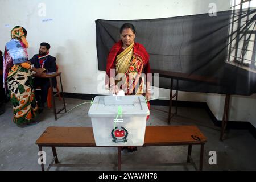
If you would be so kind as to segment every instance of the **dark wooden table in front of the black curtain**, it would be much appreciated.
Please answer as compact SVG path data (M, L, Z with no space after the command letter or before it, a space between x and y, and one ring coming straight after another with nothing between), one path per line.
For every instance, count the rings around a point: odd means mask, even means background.
M211 85L218 85L219 81L216 78L201 76L201 75L190 75L188 73L180 73L180 72L170 72L170 71L163 71L158 69L151 69L151 73L158 73L160 77L170 78L171 79L171 86L170 86L170 104L169 104L169 113L168 113L168 123L170 124L171 118L174 116L171 112L172 108L172 99L176 97L176 106L175 106L175 114L177 114L177 97L179 91L179 80L184 81L193 81L193 82L205 82ZM176 82L176 93L172 94L172 90L174 88L174 80ZM221 135L220 140L224 140L224 133L226 129L226 125L228 122L228 111L229 111L229 100L230 94L225 94L225 105L224 105L224 113L222 117L222 125L221 125Z

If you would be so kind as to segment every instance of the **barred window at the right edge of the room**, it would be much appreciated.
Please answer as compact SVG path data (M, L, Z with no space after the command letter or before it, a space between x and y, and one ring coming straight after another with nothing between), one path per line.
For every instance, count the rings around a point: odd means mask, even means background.
M256 72L256 0L231 0L227 62Z

